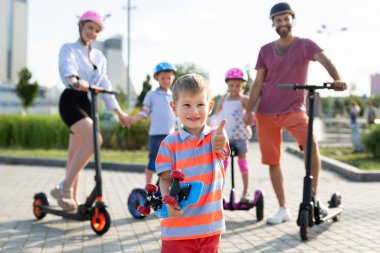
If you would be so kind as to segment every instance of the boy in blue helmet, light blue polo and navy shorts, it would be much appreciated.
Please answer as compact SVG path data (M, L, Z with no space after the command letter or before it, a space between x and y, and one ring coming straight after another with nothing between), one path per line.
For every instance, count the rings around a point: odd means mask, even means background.
M174 132L175 115L170 107L173 101L170 87L174 81L175 67L168 62L159 63L154 69L154 79L160 87L149 91L138 114L132 117L132 124L151 115L149 127L149 163L145 169L146 183L151 183L155 173L155 161L161 141Z

